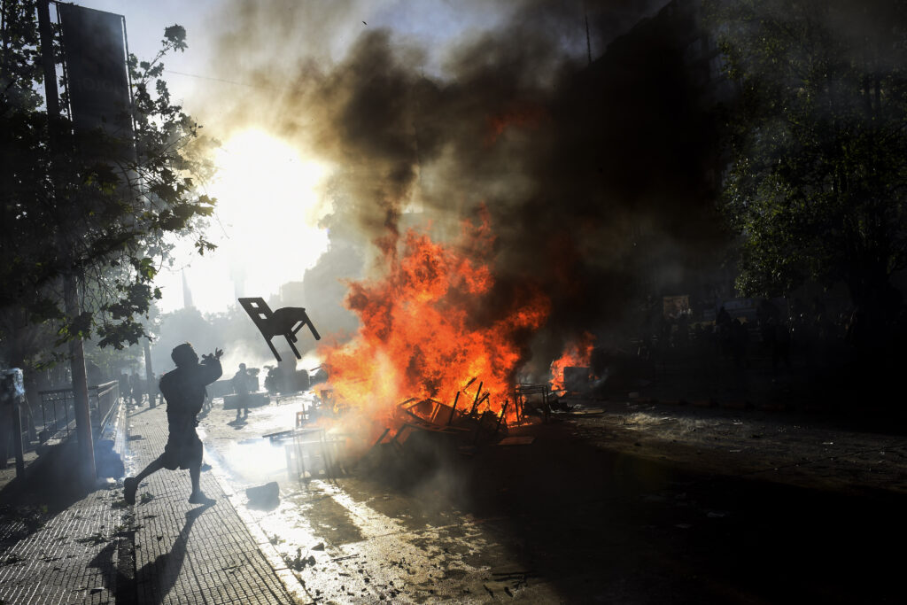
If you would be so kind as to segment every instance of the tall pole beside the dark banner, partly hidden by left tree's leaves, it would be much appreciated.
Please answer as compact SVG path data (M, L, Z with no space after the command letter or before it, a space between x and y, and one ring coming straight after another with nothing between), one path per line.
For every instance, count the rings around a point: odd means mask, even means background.
M50 3L38 2L38 33L41 36L41 60L44 66L44 101L47 104L47 125L50 149L56 148L57 123L60 118L60 96L56 88L56 63L54 62L54 34L51 30ZM51 171L54 181L54 171ZM73 268L63 273L63 299L66 316L79 316L79 297ZM79 473L86 482L93 483L94 444L92 439L92 417L88 409L88 378L85 376L85 352L81 337L69 341L70 367L73 373L73 399L75 402L75 432L79 440Z

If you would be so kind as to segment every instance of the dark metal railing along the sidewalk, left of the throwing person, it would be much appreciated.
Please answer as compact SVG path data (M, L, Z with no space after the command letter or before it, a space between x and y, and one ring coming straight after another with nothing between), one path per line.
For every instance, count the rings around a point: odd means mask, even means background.
M72 387L40 391L41 443L65 440L75 431L75 395ZM88 410L92 419L92 435L97 439L113 415L120 400L120 384L112 380L102 385L88 387ZM35 415L37 420L37 415Z

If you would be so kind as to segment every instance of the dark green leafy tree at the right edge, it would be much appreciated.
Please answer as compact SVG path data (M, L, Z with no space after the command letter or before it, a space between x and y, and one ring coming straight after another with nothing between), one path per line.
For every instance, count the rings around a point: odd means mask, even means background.
M903 2L716 0L739 98L727 112L723 205L742 236L737 286L785 295L843 281L892 312L907 267L907 11Z

